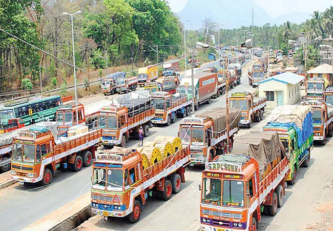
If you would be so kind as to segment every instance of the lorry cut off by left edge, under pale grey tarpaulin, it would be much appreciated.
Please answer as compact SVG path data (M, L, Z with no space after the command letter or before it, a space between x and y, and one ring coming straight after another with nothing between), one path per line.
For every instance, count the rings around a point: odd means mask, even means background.
M34 124L36 126L46 126L56 130L55 122L40 122ZM0 171L5 172L10 170L10 162L13 150L13 139L18 136L18 132L25 130L33 125L17 128L0 136Z

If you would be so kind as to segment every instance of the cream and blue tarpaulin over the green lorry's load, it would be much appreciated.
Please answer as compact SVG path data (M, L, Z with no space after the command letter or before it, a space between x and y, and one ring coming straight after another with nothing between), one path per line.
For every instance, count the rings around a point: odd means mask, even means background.
M284 105L275 108L266 119L268 127L293 127L297 132L298 146L314 133L312 108L305 105Z

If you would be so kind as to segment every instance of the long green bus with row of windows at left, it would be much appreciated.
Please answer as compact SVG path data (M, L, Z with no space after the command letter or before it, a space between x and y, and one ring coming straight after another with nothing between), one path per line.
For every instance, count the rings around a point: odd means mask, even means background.
M6 105L0 109L0 123L8 124L10 119L22 119L25 126L42 121L55 121L57 109L63 105L60 95Z

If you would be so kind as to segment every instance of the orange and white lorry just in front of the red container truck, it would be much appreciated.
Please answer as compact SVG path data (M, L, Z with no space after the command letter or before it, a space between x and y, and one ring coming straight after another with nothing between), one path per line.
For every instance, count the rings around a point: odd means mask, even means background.
M153 124L170 125L176 122L178 115L184 118L192 111L192 95L157 91L151 94L151 99L155 107Z

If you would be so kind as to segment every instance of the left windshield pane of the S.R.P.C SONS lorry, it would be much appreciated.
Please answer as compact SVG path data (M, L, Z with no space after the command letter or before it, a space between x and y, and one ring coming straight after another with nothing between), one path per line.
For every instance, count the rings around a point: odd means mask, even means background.
M221 180L203 178L201 201L221 205Z

